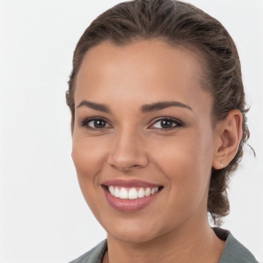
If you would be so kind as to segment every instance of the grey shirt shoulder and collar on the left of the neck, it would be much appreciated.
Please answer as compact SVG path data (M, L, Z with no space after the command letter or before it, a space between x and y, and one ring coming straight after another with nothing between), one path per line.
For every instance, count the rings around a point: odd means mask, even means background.
M99 243L95 248L86 252L77 259L69 263L101 263L105 252L107 251L107 239Z

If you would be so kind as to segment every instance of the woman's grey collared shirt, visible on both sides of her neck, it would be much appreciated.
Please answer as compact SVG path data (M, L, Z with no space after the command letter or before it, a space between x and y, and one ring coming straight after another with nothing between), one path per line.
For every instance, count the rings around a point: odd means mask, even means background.
M218 263L258 263L251 252L239 243L229 231L213 228L221 240L227 240L222 256ZM70 263L101 263L107 251L107 239Z

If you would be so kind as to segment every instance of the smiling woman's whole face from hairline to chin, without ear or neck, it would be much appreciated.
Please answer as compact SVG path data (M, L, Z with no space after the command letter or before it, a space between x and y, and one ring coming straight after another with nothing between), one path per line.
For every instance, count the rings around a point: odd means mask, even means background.
M207 221L216 147L199 61L157 40L104 42L84 57L72 159L111 237L143 242Z

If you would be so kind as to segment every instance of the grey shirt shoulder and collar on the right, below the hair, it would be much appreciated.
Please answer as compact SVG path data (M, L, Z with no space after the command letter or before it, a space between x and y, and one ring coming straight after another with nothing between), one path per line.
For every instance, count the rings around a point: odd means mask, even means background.
M213 230L219 238L221 238L222 240L227 240L219 263L258 262L252 255L252 253L239 241L237 241L229 231L220 228L213 228Z

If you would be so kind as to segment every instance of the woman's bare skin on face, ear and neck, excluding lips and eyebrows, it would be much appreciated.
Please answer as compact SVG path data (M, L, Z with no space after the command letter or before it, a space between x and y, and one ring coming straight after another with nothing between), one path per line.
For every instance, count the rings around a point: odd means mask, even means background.
M212 128L201 68L197 54L158 40L103 42L85 54L74 95L72 159L83 196L107 231L103 262L219 261L224 241L210 228L206 210L211 168L235 156L242 117L231 111ZM78 107L83 100L110 112ZM140 110L167 101L191 109ZM94 122L85 120L93 117L106 126L92 129ZM161 129L165 118L173 118L172 128ZM142 210L120 212L105 198L101 184L109 179L140 179L163 189Z

